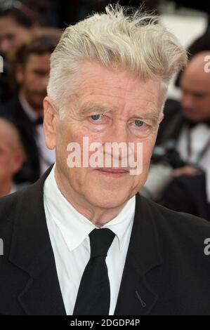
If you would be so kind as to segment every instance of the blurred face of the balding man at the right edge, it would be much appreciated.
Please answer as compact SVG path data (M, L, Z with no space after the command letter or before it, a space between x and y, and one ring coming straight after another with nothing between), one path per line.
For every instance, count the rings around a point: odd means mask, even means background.
M210 119L210 74L204 72L204 57L192 60L181 78L184 116L195 122Z

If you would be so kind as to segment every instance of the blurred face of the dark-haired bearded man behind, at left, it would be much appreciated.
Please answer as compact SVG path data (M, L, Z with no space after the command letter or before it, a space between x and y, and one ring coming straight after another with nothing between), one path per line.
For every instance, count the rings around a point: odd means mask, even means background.
M21 91L36 111L43 107L50 72L50 54L29 55L24 68L18 72Z

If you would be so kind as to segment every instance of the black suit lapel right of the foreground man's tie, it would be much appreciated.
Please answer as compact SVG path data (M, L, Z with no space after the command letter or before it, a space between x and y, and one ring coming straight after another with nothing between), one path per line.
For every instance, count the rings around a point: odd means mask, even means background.
M158 300L147 275L162 265L152 212L136 195L136 214L114 315L148 315Z

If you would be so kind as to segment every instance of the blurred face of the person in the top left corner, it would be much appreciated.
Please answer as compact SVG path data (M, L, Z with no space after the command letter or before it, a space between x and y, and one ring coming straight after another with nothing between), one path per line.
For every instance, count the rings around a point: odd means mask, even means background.
M13 18L0 19L0 53L8 58L25 43L31 34L31 29L18 25Z

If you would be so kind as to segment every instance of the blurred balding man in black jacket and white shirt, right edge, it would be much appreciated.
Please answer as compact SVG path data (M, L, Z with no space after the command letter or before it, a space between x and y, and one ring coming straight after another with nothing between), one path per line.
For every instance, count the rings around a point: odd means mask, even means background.
M169 101L157 142L173 141L183 166L173 169L173 180L160 203L175 211L210 220L210 73L202 51L190 58L180 77L181 103Z

